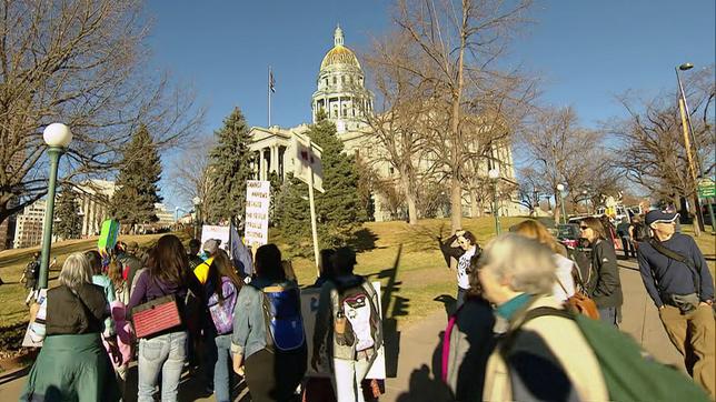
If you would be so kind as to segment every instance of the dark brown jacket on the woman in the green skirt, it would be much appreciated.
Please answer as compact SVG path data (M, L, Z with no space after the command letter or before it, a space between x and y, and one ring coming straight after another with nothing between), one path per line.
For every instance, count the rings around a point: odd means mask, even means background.
M47 292L47 334L100 333L109 306L102 287L83 283L72 293L59 285Z

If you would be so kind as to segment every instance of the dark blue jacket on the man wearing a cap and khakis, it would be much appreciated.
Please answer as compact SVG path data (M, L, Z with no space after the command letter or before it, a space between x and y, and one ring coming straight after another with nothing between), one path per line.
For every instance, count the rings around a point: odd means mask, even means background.
M665 248L684 257L690 258L700 274L700 300L714 299L714 280L708 271L708 264L694 239L686 234L674 233L672 239L662 242ZM684 263L669 259L652 247L640 242L637 250L639 271L647 292L657 308L664 305L662 294L697 293L692 270ZM657 288L658 283L658 288Z

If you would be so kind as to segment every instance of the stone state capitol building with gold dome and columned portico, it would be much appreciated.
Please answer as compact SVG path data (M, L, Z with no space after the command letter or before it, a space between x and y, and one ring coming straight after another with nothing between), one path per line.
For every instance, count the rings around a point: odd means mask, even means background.
M311 96L311 122L317 122L317 115L324 110L328 119L336 124L338 138L344 142L345 152L355 154L367 161L377 177L384 182L392 182L398 187L399 175L397 171L380 155L382 147L371 135L370 127L365 122L365 113L374 112L374 96L366 89L365 74L360 62L348 47L344 43L344 32L340 27L334 33L334 47L328 50L320 63L317 89ZM280 178L294 172L297 163L296 150L294 149L294 137L305 135L309 125L304 123L294 128L280 128L271 125L268 128L252 127L249 135L252 139L250 149L256 153L253 170L258 180L268 180L269 174L275 172ZM500 163L500 179L506 183L515 183L514 164L509 147L500 148L498 151ZM428 159L420 159L417 163L419 170L430 171ZM488 167L485 171L487 178ZM419 182L418 185L421 185ZM371 195L374 202L374 219L376 221L390 221L405 219L407 208L396 208L388 202L388 195L374 190ZM469 194L464 198L470 200ZM449 200L446 201L449 204ZM469 202L465 202L465 212L469 212ZM445 205L447 208L447 204ZM489 202L480 205L478 215L489 212ZM442 208L442 214L449 212ZM504 200L499 204L500 215L526 214L524 207L510 200ZM438 213L439 215L440 213ZM468 213L469 215L469 213Z

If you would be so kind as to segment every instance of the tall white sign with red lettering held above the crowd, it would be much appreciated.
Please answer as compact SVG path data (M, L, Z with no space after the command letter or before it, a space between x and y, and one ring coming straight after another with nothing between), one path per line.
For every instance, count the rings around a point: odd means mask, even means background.
M271 183L265 180L246 182L246 222L243 239L247 245L268 243L268 211Z

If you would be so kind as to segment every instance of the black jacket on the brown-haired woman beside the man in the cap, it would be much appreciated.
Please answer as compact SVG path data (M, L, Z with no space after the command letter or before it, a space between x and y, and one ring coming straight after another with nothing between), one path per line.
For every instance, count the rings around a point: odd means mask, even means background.
M618 308L623 303L621 280L617 255L610 242L598 239L591 244L591 278L587 284L589 297L597 308Z

